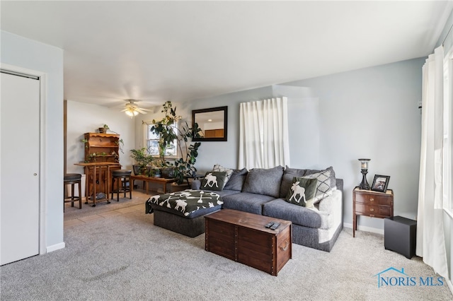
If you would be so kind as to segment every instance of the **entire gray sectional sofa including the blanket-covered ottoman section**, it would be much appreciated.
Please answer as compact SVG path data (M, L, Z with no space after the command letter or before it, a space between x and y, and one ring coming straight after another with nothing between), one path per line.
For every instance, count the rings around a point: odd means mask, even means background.
M215 168L215 166L214 166ZM223 168L223 167L222 167ZM229 170L229 169L224 169ZM214 192L222 204L190 213L147 202L147 213L154 211L154 225L190 237L205 232L206 214L229 208L292 221L292 242L330 252L343 229L343 179L336 179L332 167L326 170L303 170L277 166L270 169L229 170L222 189L202 187L192 182L193 191ZM232 173L231 173L232 172ZM287 194L296 177L316 178L316 201L313 208L289 203ZM320 185L321 184L321 185ZM321 189L322 188L322 189ZM151 199L151 198L150 198Z

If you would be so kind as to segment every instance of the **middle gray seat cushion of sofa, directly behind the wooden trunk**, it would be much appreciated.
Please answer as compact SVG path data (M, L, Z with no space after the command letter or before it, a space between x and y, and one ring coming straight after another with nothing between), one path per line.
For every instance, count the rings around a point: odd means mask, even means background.
M239 194L222 196L222 201L224 202L222 208L234 209L261 215L263 213L263 203L272 201L273 199L275 199L273 196L241 192Z

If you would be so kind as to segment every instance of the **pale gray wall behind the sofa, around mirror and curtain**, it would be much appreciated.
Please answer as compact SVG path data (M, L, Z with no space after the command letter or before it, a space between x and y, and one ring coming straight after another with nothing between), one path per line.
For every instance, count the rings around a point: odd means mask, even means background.
M371 158L367 180L389 175L394 214L415 218L418 203L422 66L425 58L229 93L183 104L185 110L228 105L228 141L205 142L197 168L238 167L239 103L288 97L291 167L333 166L344 179L345 226L352 226L352 189ZM359 229L382 232L384 221L359 218Z

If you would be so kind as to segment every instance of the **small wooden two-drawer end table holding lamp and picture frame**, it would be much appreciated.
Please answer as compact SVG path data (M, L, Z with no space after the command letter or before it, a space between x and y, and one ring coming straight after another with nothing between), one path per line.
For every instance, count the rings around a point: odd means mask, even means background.
M394 191L372 191L355 187L352 191L352 237L357 230L358 216L389 218L394 216Z

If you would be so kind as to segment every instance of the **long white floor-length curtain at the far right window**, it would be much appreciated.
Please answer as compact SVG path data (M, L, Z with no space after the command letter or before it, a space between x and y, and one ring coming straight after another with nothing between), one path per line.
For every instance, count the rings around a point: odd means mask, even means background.
M448 278L442 218L442 139L443 139L443 61L442 47L435 49L423 65L422 137L418 187L417 246L440 276Z

